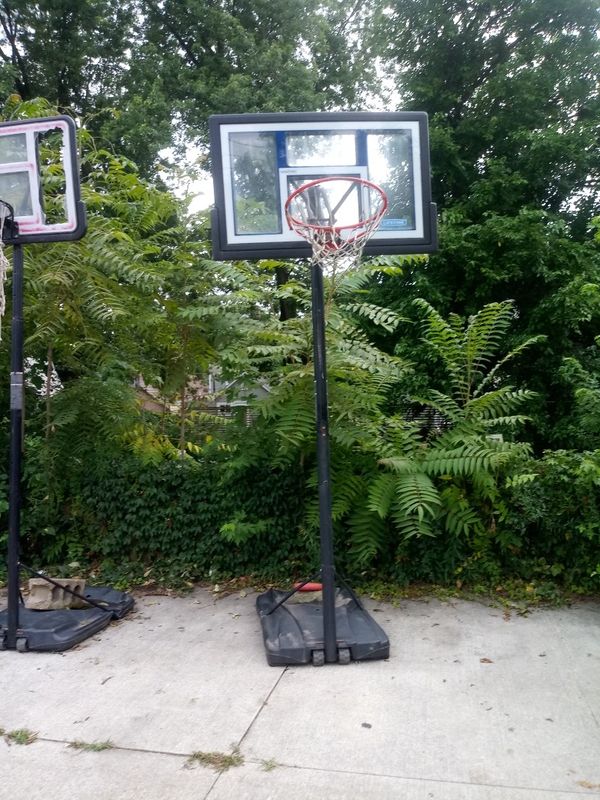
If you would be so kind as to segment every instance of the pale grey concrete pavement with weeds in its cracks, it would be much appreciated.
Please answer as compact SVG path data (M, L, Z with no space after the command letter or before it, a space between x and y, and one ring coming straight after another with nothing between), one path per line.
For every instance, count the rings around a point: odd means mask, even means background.
M600 797L599 605L370 602L388 661L283 669L254 603L144 597L66 653L0 653L0 727L37 733L0 740L0 798Z

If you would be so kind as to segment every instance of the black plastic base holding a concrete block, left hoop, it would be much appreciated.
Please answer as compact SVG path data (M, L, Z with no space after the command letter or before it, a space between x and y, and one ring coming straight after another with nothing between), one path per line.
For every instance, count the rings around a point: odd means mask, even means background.
M111 620L121 619L133 608L133 597L102 586L91 586L85 596L103 608L61 609L59 611L31 611L19 607L17 650L61 652L74 647L84 639L105 628ZM8 612L0 611L0 649L6 647Z

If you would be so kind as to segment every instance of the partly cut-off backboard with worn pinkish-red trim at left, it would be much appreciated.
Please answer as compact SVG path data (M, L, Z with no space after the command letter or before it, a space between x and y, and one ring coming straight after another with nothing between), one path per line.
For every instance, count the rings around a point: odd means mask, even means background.
M0 200L13 211L9 242L80 239L81 202L75 123L70 117L0 123Z

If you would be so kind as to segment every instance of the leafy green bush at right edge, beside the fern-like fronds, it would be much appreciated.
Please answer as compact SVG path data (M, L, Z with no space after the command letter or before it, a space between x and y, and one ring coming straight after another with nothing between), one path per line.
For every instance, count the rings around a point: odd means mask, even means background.
M501 513L485 529L401 542L367 580L518 586L551 599L600 587L600 451L548 451L520 464L499 490Z

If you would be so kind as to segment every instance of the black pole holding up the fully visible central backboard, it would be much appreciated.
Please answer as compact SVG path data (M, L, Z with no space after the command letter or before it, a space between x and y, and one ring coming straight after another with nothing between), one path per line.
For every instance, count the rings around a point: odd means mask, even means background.
M323 582L323 638L325 661L338 660L335 624L335 566L333 563L333 525L331 521L331 481L329 477L329 415L327 411L327 370L325 364L325 308L323 270L312 264L313 357L317 422L317 473L319 484L319 527L321 533L321 579Z

